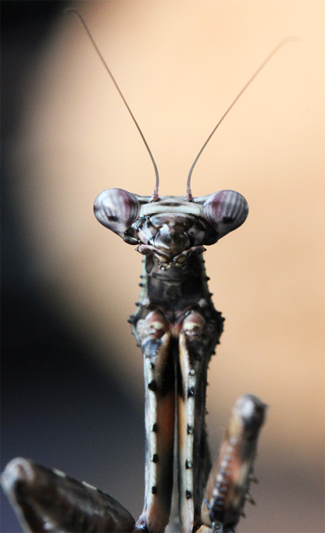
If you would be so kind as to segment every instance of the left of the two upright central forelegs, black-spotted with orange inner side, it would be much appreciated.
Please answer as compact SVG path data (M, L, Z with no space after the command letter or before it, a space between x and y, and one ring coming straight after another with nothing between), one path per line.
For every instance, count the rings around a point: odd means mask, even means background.
M165 530L170 519L175 426L172 336L159 311L143 308L133 328L143 351L145 381L145 502L137 527ZM131 319L132 320L132 319Z

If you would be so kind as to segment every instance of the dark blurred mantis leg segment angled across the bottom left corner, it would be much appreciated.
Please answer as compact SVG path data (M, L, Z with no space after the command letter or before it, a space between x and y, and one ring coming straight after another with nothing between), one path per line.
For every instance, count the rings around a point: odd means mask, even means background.
M131 533L132 515L85 482L16 458L1 475L4 491L26 532Z

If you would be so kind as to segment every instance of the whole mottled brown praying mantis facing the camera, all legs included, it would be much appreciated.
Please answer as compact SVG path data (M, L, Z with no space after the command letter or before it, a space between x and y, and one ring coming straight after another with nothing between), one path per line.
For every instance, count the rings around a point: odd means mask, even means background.
M233 191L194 200L189 187L185 199L159 198L157 189L153 198L115 189L96 202L99 219L126 242L138 244L146 259L141 305L131 318L143 347L147 384L143 514L135 524L121 505L94 488L14 460L4 485L31 531L163 531L170 520L176 440L182 530L231 531L243 510L265 407L250 395L236 402L208 476L206 370L222 318L207 291L202 252L204 244L241 225L246 201Z

